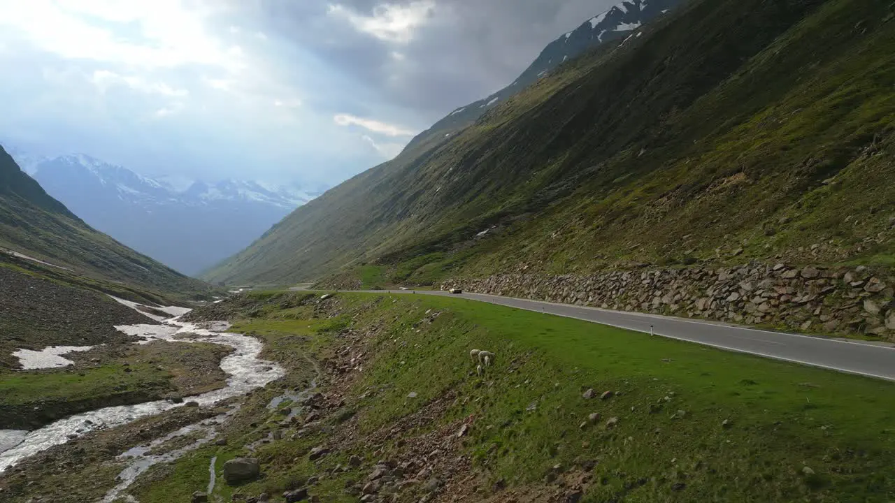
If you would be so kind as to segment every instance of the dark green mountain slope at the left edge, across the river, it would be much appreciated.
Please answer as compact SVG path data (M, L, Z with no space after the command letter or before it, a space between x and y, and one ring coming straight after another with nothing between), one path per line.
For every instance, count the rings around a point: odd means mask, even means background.
M56 268L47 266L48 272L70 276L72 281L66 281L69 283L83 283L75 278L87 276L164 293L209 290L202 282L168 269L87 226L23 173L2 147L0 252L2 263L21 262L8 255L18 252L54 264Z

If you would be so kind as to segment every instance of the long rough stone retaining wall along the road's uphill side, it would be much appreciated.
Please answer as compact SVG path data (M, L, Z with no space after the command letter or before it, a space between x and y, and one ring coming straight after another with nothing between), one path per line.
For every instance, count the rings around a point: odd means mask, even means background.
M449 279L441 289L895 340L893 286L891 271L753 263L592 276L503 274Z

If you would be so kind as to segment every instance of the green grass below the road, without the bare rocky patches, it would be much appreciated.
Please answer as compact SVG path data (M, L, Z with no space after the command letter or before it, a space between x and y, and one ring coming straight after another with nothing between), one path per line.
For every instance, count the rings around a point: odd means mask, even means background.
M276 295L264 295L260 303L278 302ZM540 487L551 466L575 470L585 462L595 463L586 501L895 497L890 382L456 298L338 294L337 303L336 318L320 320L320 312L315 318L304 305L266 309L235 328L256 332L268 348L277 339L292 341L269 356L294 358L302 351L327 354L337 339L334 329L379 327L367 342L371 356L362 379L345 396L350 413L334 414L327 424L337 431L353 415L362 438L456 394L436 422L399 437L412 444L426 431L473 417L464 449L482 475L482 498L494 482L506 482L509 490ZM440 315L430 324L426 311ZM497 354L482 378L469 360L473 348ZM585 399L587 388L615 396ZM360 399L368 389L378 390L375 397ZM407 398L411 392L415 399ZM260 415L253 422L277 421L270 411L254 410ZM600 421L582 428L590 413L600 413ZM607 426L609 418L618 419L614 428ZM239 434L251 439L263 428ZM161 502L201 489L210 456L220 463L242 454L242 439L183 458L167 468L168 477L141 485L136 496ZM370 452L345 448L320 465L308 462L303 453L327 439L321 433L262 446L253 456L261 459L265 478L239 491L278 494L344 464L350 454L371 460ZM400 449L392 442L386 455ZM316 493L322 501L352 500L341 484L362 475L337 475ZM233 492L226 485L218 490L225 498Z

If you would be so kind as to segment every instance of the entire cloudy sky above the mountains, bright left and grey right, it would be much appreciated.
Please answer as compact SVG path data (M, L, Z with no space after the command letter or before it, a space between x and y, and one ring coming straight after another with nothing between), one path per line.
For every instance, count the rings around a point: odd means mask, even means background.
M0 141L335 184L612 0L0 0Z

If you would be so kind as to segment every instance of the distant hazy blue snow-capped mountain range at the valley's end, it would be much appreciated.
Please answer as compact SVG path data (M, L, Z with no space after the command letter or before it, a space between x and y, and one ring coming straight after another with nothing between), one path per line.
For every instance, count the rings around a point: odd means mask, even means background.
M179 189L83 154L13 157L55 199L134 250L195 275L243 249L317 192L224 180Z

